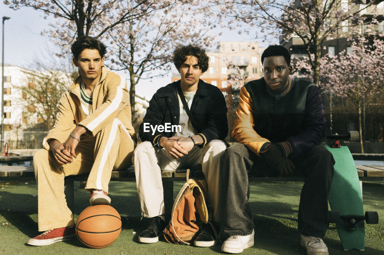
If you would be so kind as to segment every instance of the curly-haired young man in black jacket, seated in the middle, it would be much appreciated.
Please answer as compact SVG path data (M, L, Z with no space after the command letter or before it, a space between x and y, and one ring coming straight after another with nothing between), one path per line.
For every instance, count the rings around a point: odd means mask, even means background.
M151 218L147 229L139 235L139 242L157 242L166 226L161 171L201 166L208 186L209 221L194 244L207 247L217 243L213 222L223 218L219 170L227 147L223 141L228 132L227 105L220 89L200 80L209 65L203 49L191 45L178 47L173 62L180 80L160 88L152 97L139 128L142 143L134 152L141 213ZM183 105L184 98L192 119ZM166 125L179 128L167 130ZM154 128L158 126L162 128Z

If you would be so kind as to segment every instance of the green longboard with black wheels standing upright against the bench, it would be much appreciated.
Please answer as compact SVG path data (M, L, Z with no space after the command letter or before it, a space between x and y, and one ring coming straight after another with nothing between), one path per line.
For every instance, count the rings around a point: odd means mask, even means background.
M357 133L357 134L356 134ZM377 212L366 212L362 207L362 194L356 165L346 144L339 139L358 137L351 131L347 136L327 136L325 147L332 153L335 165L331 191L328 196L330 221L336 223L344 250L364 250L364 220L377 224ZM363 216L364 215L364 216Z

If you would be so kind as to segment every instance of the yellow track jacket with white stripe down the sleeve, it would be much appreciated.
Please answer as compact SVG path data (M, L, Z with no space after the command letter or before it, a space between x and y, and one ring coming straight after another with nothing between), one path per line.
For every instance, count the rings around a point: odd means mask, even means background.
M51 139L64 143L76 125L86 127L86 134L95 136L115 118L122 122L133 141L136 141L125 78L102 67L100 81L92 92L92 113L88 116L81 109L81 80L81 75L79 75L61 96L55 126L43 139L44 148L50 150Z

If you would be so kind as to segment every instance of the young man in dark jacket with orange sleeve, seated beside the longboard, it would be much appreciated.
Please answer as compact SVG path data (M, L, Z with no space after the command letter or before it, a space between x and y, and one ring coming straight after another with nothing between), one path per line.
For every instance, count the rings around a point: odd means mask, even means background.
M271 45L261 57L264 77L240 90L232 136L239 142L224 155L226 191L222 252L240 253L253 246L248 174L303 175L298 232L309 255L328 255L324 237L329 224L328 194L334 172L332 154L321 142L325 119L319 88L291 77L291 56Z

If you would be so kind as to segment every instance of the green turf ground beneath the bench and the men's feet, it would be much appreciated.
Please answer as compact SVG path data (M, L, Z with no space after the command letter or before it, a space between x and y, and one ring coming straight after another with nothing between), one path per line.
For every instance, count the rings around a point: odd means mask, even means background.
M175 183L174 195L183 183ZM300 247L297 233L297 211L301 182L257 182L250 183L250 205L255 222L255 246L242 254L300 254L306 252ZM75 182L75 217L89 205L89 193ZM37 186L28 183L0 183L0 254L216 254L215 247L192 247L168 244L161 239L155 244L140 244L137 235L146 227L140 221L139 200L136 183L111 182L109 195L112 206L122 218L122 231L116 242L103 249L84 247L77 239L57 242L53 245L33 247L27 240L37 231ZM384 184L363 183L365 211L377 211L379 224L366 225L365 252L344 251L335 225L331 224L324 238L329 254L384 254Z

